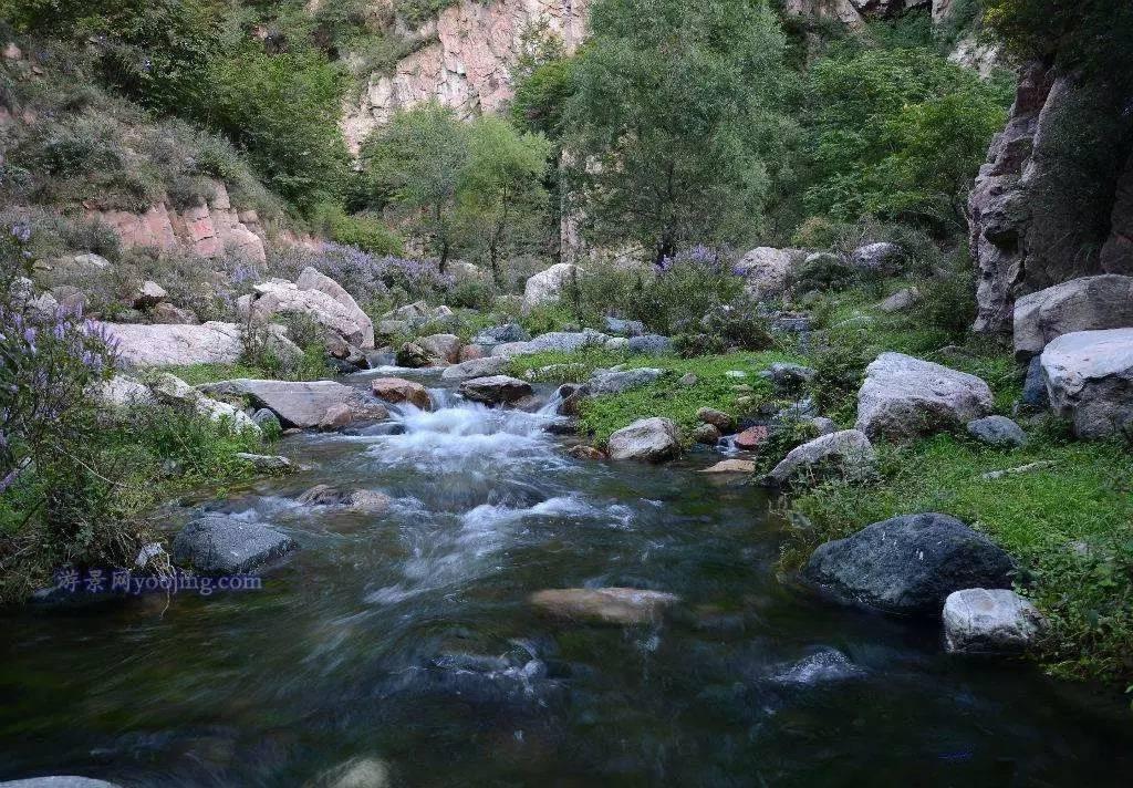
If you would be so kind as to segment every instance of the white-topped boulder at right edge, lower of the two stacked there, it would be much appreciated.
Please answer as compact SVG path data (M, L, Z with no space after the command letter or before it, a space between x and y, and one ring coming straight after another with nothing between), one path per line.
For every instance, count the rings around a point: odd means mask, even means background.
M1076 435L1133 434L1133 328L1063 334L1041 359L1050 407Z

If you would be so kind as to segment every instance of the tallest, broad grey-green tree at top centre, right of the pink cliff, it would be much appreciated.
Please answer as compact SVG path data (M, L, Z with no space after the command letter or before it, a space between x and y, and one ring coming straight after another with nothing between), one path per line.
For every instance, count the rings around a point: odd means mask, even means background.
M758 230L791 136L767 3L598 0L591 29L563 124L588 235L659 262Z

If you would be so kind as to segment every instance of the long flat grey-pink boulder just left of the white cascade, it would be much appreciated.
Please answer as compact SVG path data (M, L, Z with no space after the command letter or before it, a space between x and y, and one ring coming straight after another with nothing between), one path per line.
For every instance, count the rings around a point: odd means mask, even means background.
M197 387L206 395L247 397L256 407L269 408L283 426L317 427L326 412L346 405L355 418L386 418L390 414L381 403L335 381L282 381L239 378Z

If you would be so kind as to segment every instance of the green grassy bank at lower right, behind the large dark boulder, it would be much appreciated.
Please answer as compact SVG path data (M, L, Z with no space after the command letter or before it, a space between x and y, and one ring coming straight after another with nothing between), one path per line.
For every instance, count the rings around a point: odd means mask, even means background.
M1033 461L1033 473L981 480ZM819 542L911 511L944 511L982 529L1022 559L1022 591L1050 625L1040 656L1060 675L1128 683L1133 661L1133 494L1128 447L1064 443L1042 431L1008 451L939 435L883 449L881 480L832 482L792 501L801 561Z

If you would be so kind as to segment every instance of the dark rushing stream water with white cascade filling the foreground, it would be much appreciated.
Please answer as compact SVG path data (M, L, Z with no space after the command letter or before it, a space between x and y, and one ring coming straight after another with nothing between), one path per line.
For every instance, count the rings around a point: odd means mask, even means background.
M308 471L208 505L300 543L263 590L3 613L0 779L303 786L380 759L401 786L1130 785L1119 700L777 578L766 497L697 474L707 454L574 460L546 413L434 395L395 430L288 439ZM317 483L393 505L296 503ZM629 628L527 601L576 586L682 601Z

